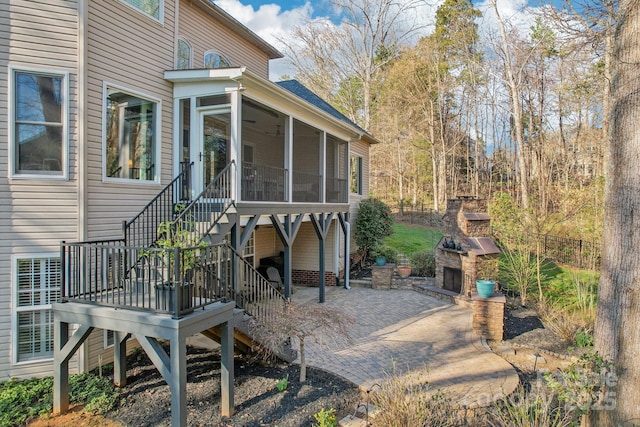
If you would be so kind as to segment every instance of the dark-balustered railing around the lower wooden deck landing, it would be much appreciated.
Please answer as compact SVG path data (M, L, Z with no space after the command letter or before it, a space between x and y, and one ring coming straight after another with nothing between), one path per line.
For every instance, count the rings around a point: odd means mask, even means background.
M226 244L125 246L121 240L61 244L63 301L166 313L233 299Z

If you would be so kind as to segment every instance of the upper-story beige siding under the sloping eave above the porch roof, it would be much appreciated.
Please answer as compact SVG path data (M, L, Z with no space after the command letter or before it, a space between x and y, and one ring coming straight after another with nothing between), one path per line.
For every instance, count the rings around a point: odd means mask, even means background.
M204 54L209 50L222 53L233 66L244 67L260 77L269 78L269 58L229 28L213 20L189 1L180 1L179 36L191 45L192 68L204 67Z

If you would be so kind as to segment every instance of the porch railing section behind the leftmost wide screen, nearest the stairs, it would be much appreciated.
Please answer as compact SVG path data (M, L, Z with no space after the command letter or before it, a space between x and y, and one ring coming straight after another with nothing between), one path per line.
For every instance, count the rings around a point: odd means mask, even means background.
M242 200L284 202L288 194L287 169L257 163L242 163Z

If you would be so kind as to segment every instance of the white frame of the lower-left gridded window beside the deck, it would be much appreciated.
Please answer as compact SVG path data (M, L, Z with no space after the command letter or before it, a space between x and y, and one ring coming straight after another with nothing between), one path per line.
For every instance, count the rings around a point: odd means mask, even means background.
M29 306L19 306L18 305L18 260L21 259L29 259L29 260L35 260L35 259L59 259L60 258L60 253L59 252L51 252L51 253L40 253L40 254L24 254L24 255L13 255L11 257L11 268L12 268L12 274L11 274L11 295L12 295L12 307L11 307L11 313L12 313L12 325L11 325L11 334L13 336L12 340L11 340L11 344L12 344L12 362L14 365L28 365L28 364L34 364L34 363L42 363L42 362L48 362L53 360L53 353L51 354L50 357L41 357L41 358L34 358L34 359L30 359L30 360L23 360L23 361L19 361L19 355L18 355L18 313L20 312L31 312L31 311L46 311L46 310L51 310L52 309L52 304L40 304L40 305L29 305ZM60 274L62 274L62 266L60 268ZM44 290L44 289L43 289ZM51 340L53 341L53 336L51 337ZM52 347L53 347L53 343L52 343Z

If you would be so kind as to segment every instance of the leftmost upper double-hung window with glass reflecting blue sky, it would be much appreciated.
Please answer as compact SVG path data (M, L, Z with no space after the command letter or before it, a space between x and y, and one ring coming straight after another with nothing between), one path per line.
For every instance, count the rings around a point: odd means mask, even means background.
M10 173L66 177L68 74L12 70Z

